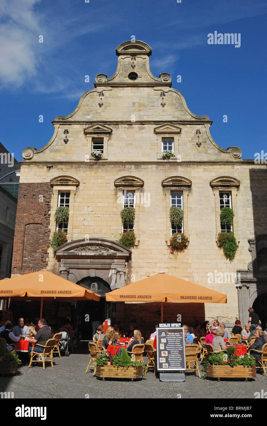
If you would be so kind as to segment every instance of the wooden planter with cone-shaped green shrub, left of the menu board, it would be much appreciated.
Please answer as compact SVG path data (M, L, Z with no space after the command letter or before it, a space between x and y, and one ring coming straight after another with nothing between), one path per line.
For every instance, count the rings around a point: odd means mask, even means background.
M110 363L110 365L108 365ZM125 348L121 355L99 355L95 361L96 376L122 379L142 379L146 374L147 368L144 363L131 360ZM145 376L146 377L146 376Z

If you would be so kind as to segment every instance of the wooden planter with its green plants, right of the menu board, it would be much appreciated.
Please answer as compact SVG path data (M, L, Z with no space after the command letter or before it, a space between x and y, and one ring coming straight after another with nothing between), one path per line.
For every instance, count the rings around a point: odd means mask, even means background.
M248 378L256 377L256 361L253 357L245 355L238 357L235 355L236 346L226 348L227 354L220 352L210 355L203 361L204 379L206 377L216 377L220 381L221 377Z

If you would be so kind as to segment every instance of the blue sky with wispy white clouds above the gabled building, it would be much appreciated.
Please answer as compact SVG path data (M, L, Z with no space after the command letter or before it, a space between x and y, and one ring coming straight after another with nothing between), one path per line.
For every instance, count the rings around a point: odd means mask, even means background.
M97 74L113 75L116 47L134 35L152 48L151 72L170 73L189 109L213 120L215 142L254 158L267 151L266 15L264 0L1 0L0 141L18 161L43 147L55 116L72 112ZM241 46L209 45L215 31L240 33Z

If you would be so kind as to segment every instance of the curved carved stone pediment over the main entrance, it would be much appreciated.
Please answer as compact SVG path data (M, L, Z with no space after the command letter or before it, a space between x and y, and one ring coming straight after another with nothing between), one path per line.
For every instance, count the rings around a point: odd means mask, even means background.
M61 245L55 250L56 259L65 257L86 256L86 257L103 257L125 259L126 262L131 260L131 250L119 244L118 242L104 238L88 238L74 240Z

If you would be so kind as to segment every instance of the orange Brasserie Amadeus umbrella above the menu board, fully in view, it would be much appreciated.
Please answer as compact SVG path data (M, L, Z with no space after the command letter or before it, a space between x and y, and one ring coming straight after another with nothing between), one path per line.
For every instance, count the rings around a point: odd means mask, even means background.
M165 272L110 291L110 293L106 293L106 300L107 302L161 302L161 322L163 322L163 302L227 302L226 294L168 275Z

